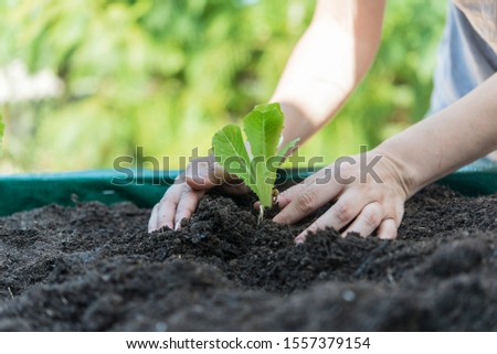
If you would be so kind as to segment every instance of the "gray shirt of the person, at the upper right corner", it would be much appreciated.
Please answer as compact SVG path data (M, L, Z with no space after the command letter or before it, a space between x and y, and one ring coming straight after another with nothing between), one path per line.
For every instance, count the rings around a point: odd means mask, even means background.
M453 104L496 72L497 0L451 1L427 115Z

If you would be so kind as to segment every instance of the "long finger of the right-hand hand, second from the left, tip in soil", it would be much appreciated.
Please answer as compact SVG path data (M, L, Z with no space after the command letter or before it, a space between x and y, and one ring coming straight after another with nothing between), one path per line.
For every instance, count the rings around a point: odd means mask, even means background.
M359 215L362 207L368 203L361 194L345 193L325 214L295 237L295 243L300 244L305 242L309 233L315 233L318 229L332 227L339 230L343 228Z

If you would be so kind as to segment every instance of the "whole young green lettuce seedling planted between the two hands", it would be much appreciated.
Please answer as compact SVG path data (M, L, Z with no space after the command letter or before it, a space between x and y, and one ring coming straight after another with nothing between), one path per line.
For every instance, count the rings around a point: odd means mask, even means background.
M276 170L288 150L299 140L295 139L276 151L281 142L283 121L279 104L260 105L243 118L246 142L236 125L225 126L212 138L215 160L257 194L261 202L260 221L264 216L264 208L273 206Z

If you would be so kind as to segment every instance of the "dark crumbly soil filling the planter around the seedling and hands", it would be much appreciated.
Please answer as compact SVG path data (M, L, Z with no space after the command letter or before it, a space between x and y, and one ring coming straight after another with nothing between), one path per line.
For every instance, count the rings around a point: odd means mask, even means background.
M151 235L129 203L0 218L0 331L497 331L497 195L431 186L393 242L302 246L313 217L257 226L252 202Z

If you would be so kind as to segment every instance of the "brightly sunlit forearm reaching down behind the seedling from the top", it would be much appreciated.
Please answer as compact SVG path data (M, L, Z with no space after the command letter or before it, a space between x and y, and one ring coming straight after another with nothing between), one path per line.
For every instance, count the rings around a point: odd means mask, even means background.
M285 112L285 141L305 141L343 105L376 56L383 10L383 1L318 1L271 99Z

